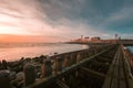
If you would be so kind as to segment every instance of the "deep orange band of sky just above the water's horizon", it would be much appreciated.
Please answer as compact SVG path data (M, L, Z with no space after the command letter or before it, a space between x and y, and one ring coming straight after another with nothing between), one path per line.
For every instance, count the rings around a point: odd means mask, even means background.
M11 42L58 42L51 36L0 34L0 43Z

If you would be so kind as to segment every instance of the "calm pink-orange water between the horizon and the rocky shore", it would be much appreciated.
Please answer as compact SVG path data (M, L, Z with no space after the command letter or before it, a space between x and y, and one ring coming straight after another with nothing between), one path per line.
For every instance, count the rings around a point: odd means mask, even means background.
M80 44L0 44L0 59L17 61L21 57L34 57L40 55L53 55L54 53L65 53L88 48Z

